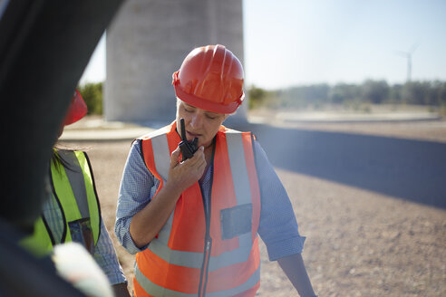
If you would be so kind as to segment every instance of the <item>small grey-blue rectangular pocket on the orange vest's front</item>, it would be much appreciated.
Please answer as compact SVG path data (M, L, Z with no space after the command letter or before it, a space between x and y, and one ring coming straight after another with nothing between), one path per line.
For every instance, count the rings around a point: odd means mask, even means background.
M252 203L225 208L220 211L221 239L231 239L251 232Z

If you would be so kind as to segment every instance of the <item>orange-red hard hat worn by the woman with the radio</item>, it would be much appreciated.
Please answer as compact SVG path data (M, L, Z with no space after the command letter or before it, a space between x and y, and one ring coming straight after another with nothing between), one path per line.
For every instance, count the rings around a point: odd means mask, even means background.
M245 98L243 67L220 44L194 49L172 79L177 97L202 110L232 113Z

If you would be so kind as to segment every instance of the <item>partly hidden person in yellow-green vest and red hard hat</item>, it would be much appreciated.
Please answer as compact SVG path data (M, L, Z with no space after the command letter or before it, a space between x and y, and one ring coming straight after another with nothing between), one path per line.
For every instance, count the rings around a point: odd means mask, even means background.
M87 106L76 90L58 139L66 125L81 120L86 113ZM55 247L66 243L82 244L102 268L114 294L118 297L130 296L111 237L102 221L92 166L86 152L57 148L56 145L49 169L52 195L44 203L42 216L34 225L34 234L24 238L22 244L39 257L51 254ZM71 249L76 251L75 247ZM57 266L63 267L64 274L69 274L70 265L66 263L74 263L73 260L63 260L57 254L53 256L53 260ZM76 273L82 272L82 267L73 269ZM88 272L85 273L88 275ZM73 281L76 278L82 279L82 275L73 276ZM94 284L90 284L90 287L92 285Z

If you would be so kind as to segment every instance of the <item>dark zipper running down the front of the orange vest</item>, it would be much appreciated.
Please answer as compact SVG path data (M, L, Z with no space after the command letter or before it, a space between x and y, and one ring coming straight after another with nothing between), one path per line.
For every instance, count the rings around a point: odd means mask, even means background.
M212 157L210 160L211 167L209 169L210 172L210 186L209 186L209 199L206 200L206 197L203 195L203 189L200 185L201 190L201 198L203 199L203 207L205 212L205 220L206 220L206 234L205 234L205 246L203 253L203 263L201 265L201 272L199 275L199 297L206 296L206 286L208 285L208 270L209 270L209 259L210 252L212 250L212 238L210 237L210 213L211 213L211 196L212 196L212 181L214 179L214 156L215 156L215 147L216 147L216 138L212 141Z

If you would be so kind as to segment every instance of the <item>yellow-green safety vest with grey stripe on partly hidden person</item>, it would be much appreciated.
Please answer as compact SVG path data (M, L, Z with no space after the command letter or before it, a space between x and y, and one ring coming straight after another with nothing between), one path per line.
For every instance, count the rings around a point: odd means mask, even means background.
M62 164L51 162L52 199L54 205L60 206L63 216L63 234L53 235L44 215L34 225L34 235L24 240L34 254L44 255L53 250L53 244L72 241L69 223L90 218L94 245L97 244L101 232L101 213L96 195L91 167L88 158L82 151L58 151L67 168ZM72 187L73 185L82 185Z

